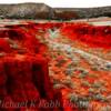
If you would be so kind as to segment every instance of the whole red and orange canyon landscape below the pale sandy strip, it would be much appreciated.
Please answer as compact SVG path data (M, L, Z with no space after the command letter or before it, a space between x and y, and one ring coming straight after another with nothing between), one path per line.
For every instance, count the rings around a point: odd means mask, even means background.
M111 26L1 24L0 75L2 101L28 101L20 111L111 111Z

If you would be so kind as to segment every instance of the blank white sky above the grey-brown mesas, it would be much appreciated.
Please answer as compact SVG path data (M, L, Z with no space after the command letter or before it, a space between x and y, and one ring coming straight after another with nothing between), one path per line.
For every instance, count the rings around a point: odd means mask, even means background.
M0 0L0 3L44 2L50 7L91 8L111 6L111 0Z

